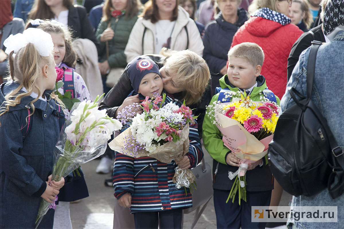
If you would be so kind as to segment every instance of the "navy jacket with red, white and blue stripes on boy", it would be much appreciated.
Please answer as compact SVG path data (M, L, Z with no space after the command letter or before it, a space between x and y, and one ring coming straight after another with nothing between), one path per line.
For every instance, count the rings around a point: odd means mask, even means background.
M165 103L170 101L182 105L179 100L166 96ZM197 123L190 125L189 141L189 152L185 155L194 168L203 158ZM184 187L176 189L172 182L175 167L174 161L166 164L150 157L132 158L116 152L114 195L119 199L123 194L131 194L131 213L192 207L189 189L186 194Z

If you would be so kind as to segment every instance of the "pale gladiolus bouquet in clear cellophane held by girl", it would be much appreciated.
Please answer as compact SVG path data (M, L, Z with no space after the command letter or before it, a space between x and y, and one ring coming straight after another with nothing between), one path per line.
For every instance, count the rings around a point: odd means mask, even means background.
M52 180L60 181L81 163L99 157L105 152L112 133L122 128L117 119L110 118L105 110L98 110L97 101L102 96L97 96L94 102L73 105L54 149ZM35 228L49 208L55 209L54 203L42 199Z

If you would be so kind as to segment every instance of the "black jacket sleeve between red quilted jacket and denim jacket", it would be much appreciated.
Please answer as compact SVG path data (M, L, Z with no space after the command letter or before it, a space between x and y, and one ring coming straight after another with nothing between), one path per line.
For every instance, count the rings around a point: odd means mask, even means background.
M299 60L299 56L303 50L312 45L312 41L325 41L324 33L322 32L321 25L312 28L309 32L303 33L299 39L291 47L291 51L288 57L287 77L288 80L293 72L296 63Z

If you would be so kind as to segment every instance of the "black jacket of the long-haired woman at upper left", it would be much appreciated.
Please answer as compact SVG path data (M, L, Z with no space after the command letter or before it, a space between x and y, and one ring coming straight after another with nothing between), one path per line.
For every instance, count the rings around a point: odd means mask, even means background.
M73 37L91 40L99 51L99 42L95 36L95 28L91 25L85 7L73 5L68 9L68 26L73 30Z

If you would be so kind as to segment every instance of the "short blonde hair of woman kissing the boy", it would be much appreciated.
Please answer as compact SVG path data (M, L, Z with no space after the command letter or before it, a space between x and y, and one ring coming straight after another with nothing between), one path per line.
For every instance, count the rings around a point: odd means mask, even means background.
M205 60L191 50L168 52L162 49L161 54L169 56L165 62L165 68L176 84L185 88L185 104L190 105L201 100L202 94L208 85L210 71Z

